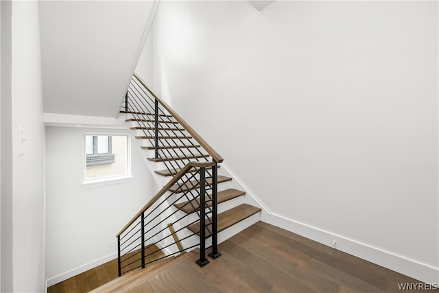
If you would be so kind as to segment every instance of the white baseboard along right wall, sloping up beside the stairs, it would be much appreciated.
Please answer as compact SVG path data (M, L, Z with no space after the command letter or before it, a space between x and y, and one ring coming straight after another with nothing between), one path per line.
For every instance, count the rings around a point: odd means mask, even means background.
M320 228L309 226L296 220L286 218L283 215L274 213L254 194L254 192L251 191L250 188L244 184L244 182L235 173L230 170L229 167L224 165L224 163L221 165L222 169L228 172L233 180L239 183L244 191L246 191L246 197L249 196L251 198L246 199L246 202L256 204L261 207L261 220L263 222L278 226L287 231L307 237L330 247L333 247L331 244L333 243L333 240L336 240L335 248L343 251L344 253L348 253L350 255L354 255L355 257L365 259L366 261L376 263L379 266L405 274L425 283L436 285L439 284L439 268L434 268L425 263L420 263L419 261L404 257L403 255L396 255L390 251L385 251L381 248L376 248L368 244L357 242L354 239L348 239L347 237L331 233L330 231L324 231Z

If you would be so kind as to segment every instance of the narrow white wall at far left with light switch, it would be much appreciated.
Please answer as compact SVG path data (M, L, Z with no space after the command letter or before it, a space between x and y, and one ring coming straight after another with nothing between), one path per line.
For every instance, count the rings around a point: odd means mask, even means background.
M42 292L44 127L38 3L2 1L1 8L1 291ZM27 139L22 156L17 152L19 126Z

